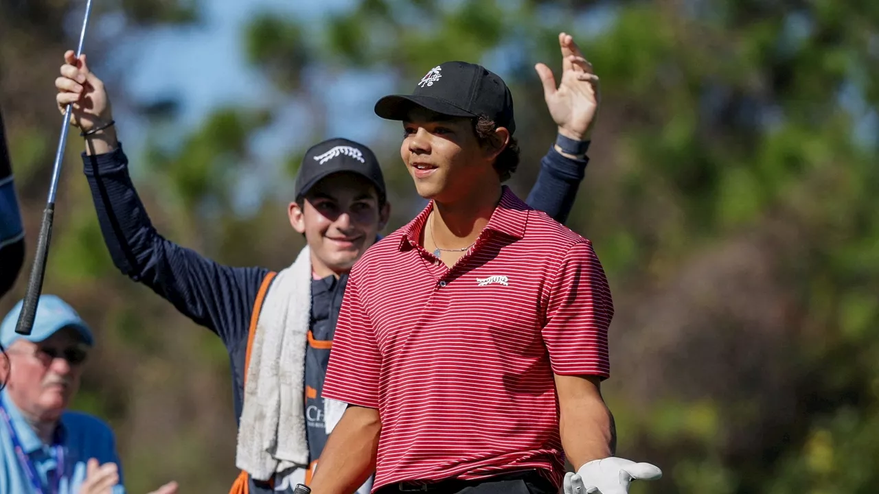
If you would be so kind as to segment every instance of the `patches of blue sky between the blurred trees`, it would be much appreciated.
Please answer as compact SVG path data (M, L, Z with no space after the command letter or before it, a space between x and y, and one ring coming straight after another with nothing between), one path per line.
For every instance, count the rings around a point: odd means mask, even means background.
M200 23L186 27L167 27L138 33L119 49L111 50L106 68L120 72L124 89L141 102L174 97L181 102L181 112L174 127L186 131L200 122L217 106L254 105L280 108L275 125L257 136L253 148L258 156L273 161L282 158L297 142L291 129L307 123L307 115L286 95L274 91L257 70L251 69L243 53L241 37L247 22L258 12L272 11L301 19L319 19L327 13L350 8L354 0L293 2L290 0L213 0L200 2ZM113 32L114 20L104 19L97 28ZM87 49L86 49L87 51ZM137 63L130 61L136 60ZM131 69L128 69L131 68ZM323 91L331 91L329 118L332 134L354 140L371 141L381 130L372 115L374 101L383 95L393 80L388 76L364 74L356 84L350 80L316 80ZM136 151L142 139L143 122L118 108L124 120L120 134L128 149ZM352 116L354 116L352 118Z

